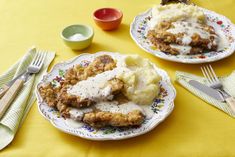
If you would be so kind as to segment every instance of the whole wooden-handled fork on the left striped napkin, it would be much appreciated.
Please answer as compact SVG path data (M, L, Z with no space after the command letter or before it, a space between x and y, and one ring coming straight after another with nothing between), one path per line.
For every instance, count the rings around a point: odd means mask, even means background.
M33 61L27 68L25 74L23 74L20 78L16 79L13 85L9 88L6 94L0 100L0 119L23 87L24 82L26 82L31 74L36 74L42 68L43 62L45 60L46 53L45 52L38 52L34 57Z

